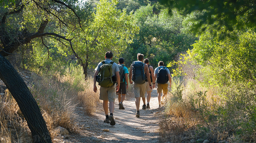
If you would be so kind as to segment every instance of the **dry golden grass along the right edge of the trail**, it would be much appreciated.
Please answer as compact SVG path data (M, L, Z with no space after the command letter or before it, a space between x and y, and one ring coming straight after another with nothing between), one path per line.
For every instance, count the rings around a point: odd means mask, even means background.
M159 119L161 142L190 142L191 139L197 140L198 138L220 141L227 137L224 137L224 134L220 133L217 128L214 129L214 126L210 127L209 124L205 124L204 121L208 120L208 116L202 116L200 111L195 110L195 107L199 108L199 104L200 109L207 104L209 108L206 107L206 109L213 110L210 106L220 102L215 92L205 94L203 96L205 100L202 101L198 100L197 91L205 91L205 88L200 87L195 80L187 81L186 87L179 81L173 82L172 92L168 93L166 98L165 116ZM192 101L199 102L192 104ZM204 126L211 132L205 131ZM206 135L207 132L210 133Z

